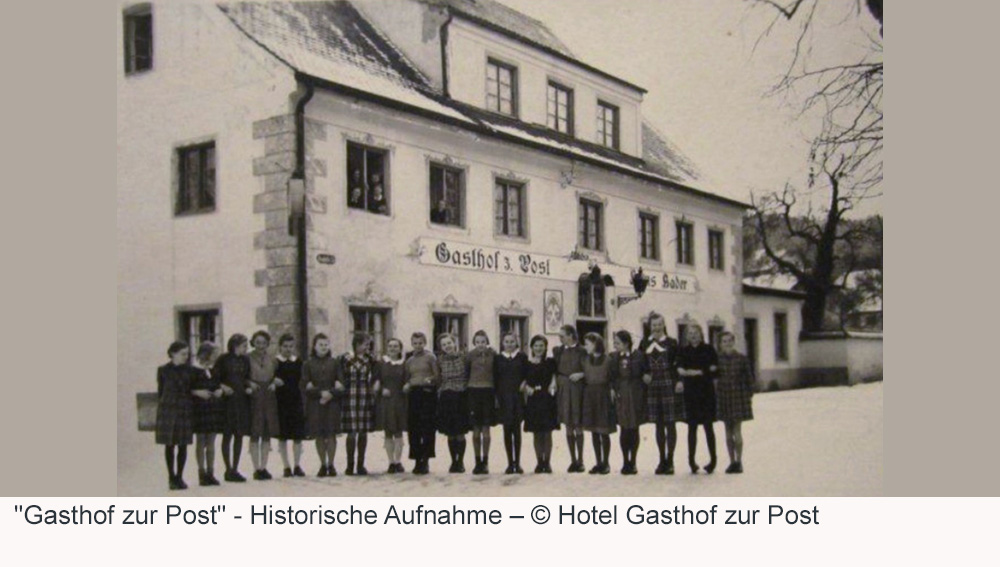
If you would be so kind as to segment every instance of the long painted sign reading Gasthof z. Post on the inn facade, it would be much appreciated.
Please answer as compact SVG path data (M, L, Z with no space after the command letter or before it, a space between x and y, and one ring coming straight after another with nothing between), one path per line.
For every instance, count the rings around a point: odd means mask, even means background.
M588 261L583 259L505 250L440 238L421 238L418 245L419 261L427 266L567 282L577 281L581 274L590 270ZM603 274L614 278L618 287L630 286L632 268L600 262L598 266ZM698 279L694 276L645 269L644 271L649 278L647 291L673 293L698 291Z

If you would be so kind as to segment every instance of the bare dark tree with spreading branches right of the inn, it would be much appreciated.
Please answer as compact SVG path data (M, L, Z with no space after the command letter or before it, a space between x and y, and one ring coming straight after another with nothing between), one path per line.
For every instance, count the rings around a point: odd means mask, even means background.
M858 13L865 10L879 26L877 36L867 35L866 54L830 63L829 58L816 57L820 49L813 45L819 0L752 1L774 12L758 43L779 22L798 26L791 62L770 94L799 98L803 114L818 111L822 116L805 184L787 182L781 191L751 195L764 253L775 271L798 280L807 293L803 328L819 331L825 326L831 294L843 287L837 278L853 271L857 247L866 236L845 220L863 201L881 195L882 2L857 2ZM777 246L776 232L796 244Z

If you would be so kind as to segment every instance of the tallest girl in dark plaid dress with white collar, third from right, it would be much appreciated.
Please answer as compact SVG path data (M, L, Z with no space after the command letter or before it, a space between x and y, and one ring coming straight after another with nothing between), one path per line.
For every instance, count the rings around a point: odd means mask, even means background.
M677 422L684 420L683 388L677 379L677 341L667 336L663 315L650 313L646 324L648 335L639 350L642 351L648 418L656 427L656 448L660 452L656 474L674 474Z

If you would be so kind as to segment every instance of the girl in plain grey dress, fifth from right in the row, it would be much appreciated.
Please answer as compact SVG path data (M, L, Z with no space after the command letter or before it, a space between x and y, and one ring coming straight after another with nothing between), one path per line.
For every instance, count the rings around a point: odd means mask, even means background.
M611 400L611 373L613 361L607 355L604 339L597 333L587 333L583 339L587 358L583 359L583 415L581 424L594 441L594 458L597 464L590 474L608 474L611 465L611 433L615 431L615 414Z

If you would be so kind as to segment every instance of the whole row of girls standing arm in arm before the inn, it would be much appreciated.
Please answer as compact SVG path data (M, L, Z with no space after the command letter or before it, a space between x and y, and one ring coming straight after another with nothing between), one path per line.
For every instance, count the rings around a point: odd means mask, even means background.
M335 357L326 335L313 338L308 360L296 358L291 335L269 350L264 331L250 341L233 335L226 352L217 356L211 343L190 349L175 342L170 362L157 373L156 442L165 445L169 487L184 489L182 478L187 446L195 439L199 484L218 485L214 474L215 437L222 434L224 480L245 482L239 473L243 437L250 437L253 478L268 480L272 438L279 440L284 476L305 476L300 466L302 441L313 439L320 460L318 477L337 475L337 436L347 434L345 474L366 475L368 433L384 432L388 474L405 472L401 463L403 434L408 435L412 472L430 472L436 456L436 435L447 437L450 473L464 473L467 436L472 433L475 465L472 474L489 474L491 430L502 426L507 456L506 474L522 474L521 432L533 434L534 472L552 472L552 434L565 427L571 464L581 473L584 433L590 432L594 466L591 474L611 472L611 434L621 428L621 473L637 474L639 427L651 423L659 450L656 474L674 473L677 422L688 426L688 463L692 473L698 429L704 429L710 461L716 468L713 423L723 421L730 465L727 473L743 472L740 424L753 419L754 377L747 358L735 349L732 333L720 336L720 351L705 343L701 329L687 327L684 346L667 335L661 315L652 314L647 336L633 345L632 335L617 331L613 352L596 333L582 344L572 326L560 331L560 345L548 356L548 339L531 338L522 350L518 337L506 334L499 352L484 331L475 333L472 348L460 349L450 334L438 337L439 354L427 348L423 333L414 333L411 350L391 339L377 358L372 340L352 339L351 350ZM249 344L248 344L249 343ZM253 347L247 352L249 346ZM289 456L288 444L292 444Z

